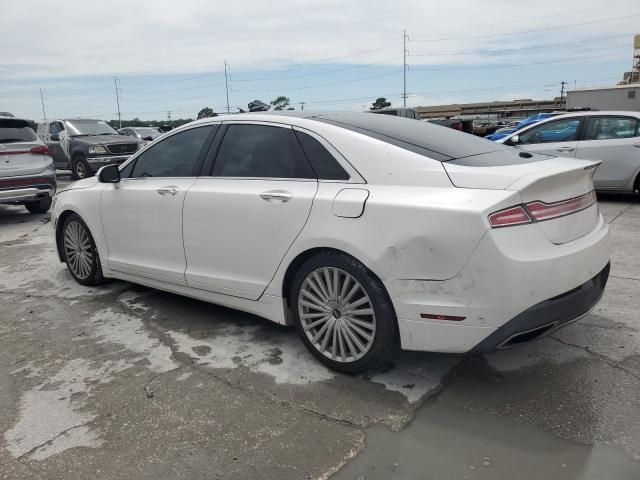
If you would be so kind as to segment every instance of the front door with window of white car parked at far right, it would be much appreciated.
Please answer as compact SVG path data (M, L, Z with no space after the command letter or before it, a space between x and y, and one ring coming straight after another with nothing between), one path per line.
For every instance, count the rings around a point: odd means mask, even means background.
M583 118L565 117L535 125L520 133L514 145L530 152L575 157Z

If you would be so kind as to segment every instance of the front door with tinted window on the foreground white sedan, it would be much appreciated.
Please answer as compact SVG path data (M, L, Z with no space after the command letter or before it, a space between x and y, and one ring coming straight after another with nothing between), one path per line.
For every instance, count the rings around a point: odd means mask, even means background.
M185 284L182 208L216 126L168 136L122 169L102 192L101 215L109 268Z

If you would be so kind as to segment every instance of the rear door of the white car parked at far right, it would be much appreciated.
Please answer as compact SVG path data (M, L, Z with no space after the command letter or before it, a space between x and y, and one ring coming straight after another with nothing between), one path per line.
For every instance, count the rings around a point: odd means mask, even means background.
M625 115L589 116L576 156L601 160L594 176L598 188L633 185L640 170L640 122Z

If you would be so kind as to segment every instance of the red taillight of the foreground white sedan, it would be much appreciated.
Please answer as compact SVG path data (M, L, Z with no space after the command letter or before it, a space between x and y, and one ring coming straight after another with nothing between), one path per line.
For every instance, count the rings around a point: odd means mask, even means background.
M547 203L536 200L525 205L516 205L504 210L498 210L489 215L489 223L492 228L498 228L542 222L585 210L594 205L596 201L596 192L593 190L579 197L560 200L559 202Z

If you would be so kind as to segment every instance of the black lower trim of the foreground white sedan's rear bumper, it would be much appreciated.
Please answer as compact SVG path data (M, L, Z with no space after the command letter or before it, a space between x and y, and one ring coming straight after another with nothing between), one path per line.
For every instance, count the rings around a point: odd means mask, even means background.
M607 264L598 275L579 287L528 308L494 331L470 353L515 347L578 320L602 298L610 267Z

